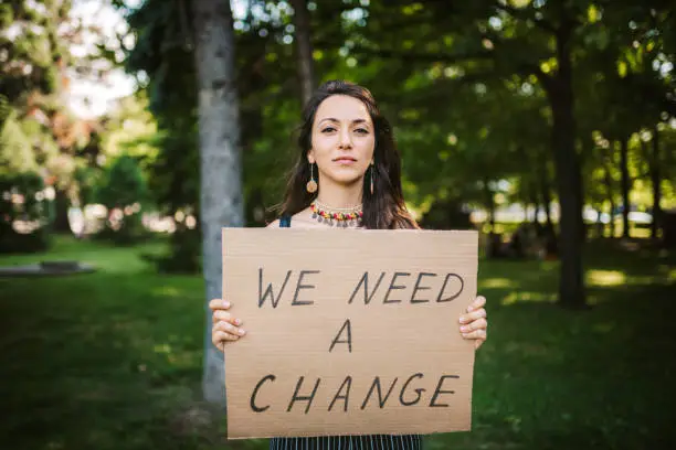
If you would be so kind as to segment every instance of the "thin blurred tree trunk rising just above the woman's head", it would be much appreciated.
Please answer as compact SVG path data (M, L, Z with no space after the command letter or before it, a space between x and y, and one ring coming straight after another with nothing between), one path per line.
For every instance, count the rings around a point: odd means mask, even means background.
M296 29L296 52L298 57L298 78L300 79L300 98L306 105L315 90L315 67L309 12L306 0L292 0L294 8L294 26Z

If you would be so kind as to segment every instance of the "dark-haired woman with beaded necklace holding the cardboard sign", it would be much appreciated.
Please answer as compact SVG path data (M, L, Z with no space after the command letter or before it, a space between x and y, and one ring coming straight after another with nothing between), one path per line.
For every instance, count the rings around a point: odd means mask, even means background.
M401 163L392 130L371 93L347 82L328 82L304 113L300 158L292 173L281 218L270 227L418 228L404 205ZM477 297L460 317L460 332L478 349L486 340L486 300ZM210 302L213 344L245 335L226 300ZM271 449L420 449L420 436L273 438Z

